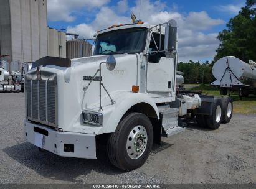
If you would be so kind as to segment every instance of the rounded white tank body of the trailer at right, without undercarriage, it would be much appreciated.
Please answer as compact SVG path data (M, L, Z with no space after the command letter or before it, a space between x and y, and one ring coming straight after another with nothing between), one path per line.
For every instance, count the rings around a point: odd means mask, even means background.
M212 67L216 81L211 85L223 88L242 87L256 84L256 67L232 56L220 58ZM250 83L250 84L249 84ZM256 85L255 85L256 86Z

